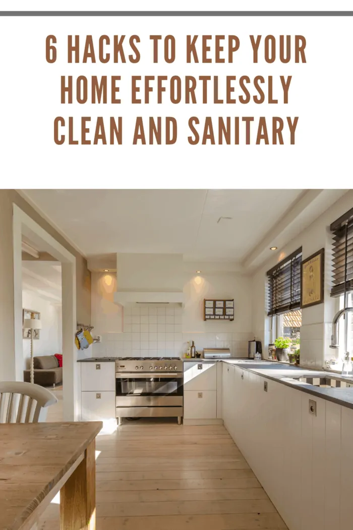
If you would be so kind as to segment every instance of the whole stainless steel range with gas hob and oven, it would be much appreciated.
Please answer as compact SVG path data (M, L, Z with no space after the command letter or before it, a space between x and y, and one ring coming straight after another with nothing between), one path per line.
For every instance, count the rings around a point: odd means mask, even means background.
M178 357L118 357L116 418L183 416L183 361Z

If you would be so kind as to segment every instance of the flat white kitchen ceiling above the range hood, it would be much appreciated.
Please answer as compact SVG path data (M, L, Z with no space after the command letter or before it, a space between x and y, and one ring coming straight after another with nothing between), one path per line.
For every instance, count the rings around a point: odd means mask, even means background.
M21 190L85 255L242 262L304 190ZM220 217L231 217L230 220Z

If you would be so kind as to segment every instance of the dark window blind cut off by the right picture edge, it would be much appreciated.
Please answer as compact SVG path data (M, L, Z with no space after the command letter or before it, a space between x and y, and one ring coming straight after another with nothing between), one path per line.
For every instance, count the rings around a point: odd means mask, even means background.
M353 208L330 226L332 244L331 296L353 290Z

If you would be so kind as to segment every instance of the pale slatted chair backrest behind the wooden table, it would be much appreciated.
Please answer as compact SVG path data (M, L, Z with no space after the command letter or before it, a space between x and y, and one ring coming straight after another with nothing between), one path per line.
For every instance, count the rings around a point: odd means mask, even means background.
M57 402L42 386L0 381L0 423L37 423L41 409Z

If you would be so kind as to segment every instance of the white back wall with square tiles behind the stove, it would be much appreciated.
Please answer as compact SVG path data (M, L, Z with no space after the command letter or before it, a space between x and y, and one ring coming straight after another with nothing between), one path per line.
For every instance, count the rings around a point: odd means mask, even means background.
M92 274L93 334L102 335L102 343L92 346L94 357L180 356L185 353L189 340L195 341L196 350L229 347L234 356L247 355L247 341L253 338L250 278L239 272L219 270L222 266L218 264L208 264L207 267L203 264L200 269L209 272L196 275L196 267L191 271L192 267L180 260L178 267L175 267L177 259L174 257L174 267L169 269L170 279L165 274L163 282L169 288L183 288L184 308L172 304L134 304L123 308L113 302L115 274ZM158 287L156 276L151 278L149 282L148 275L144 275L136 287L146 290ZM133 283L126 278L125 273L125 288L128 282L132 288ZM234 321L205 322L203 300L207 297L234 298Z

